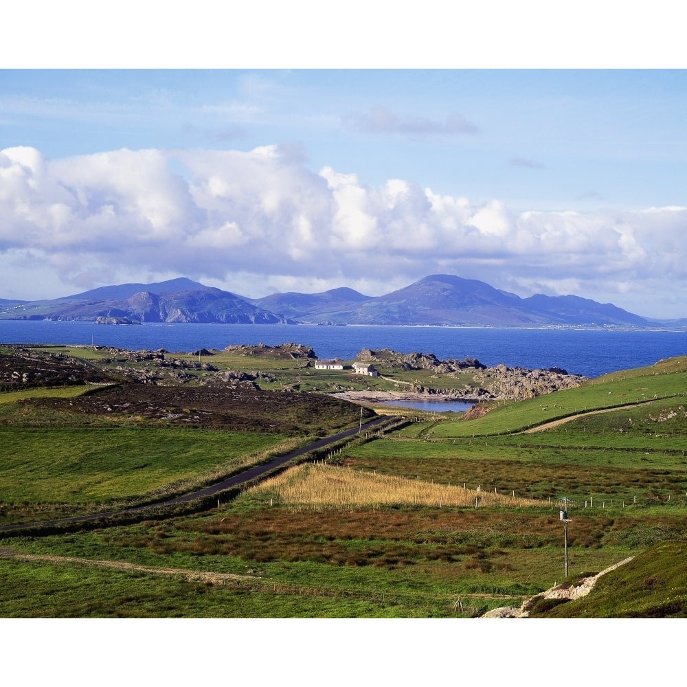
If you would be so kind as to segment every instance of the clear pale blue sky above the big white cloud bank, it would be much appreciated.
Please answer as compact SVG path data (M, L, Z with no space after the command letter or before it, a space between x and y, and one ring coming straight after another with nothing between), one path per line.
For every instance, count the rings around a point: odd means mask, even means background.
M670 205L687 181L681 70L19 70L0 85L0 146L51 158L280 144L313 172L521 210Z

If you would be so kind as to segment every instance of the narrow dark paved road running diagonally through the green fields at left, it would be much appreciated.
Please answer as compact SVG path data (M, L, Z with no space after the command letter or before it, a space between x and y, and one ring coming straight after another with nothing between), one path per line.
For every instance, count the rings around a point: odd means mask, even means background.
M0 533L12 532L14 530L27 530L29 528L34 528L38 526L66 525L68 523L99 520L102 518L113 517L113 515L122 515L124 513L138 513L141 510L148 510L149 508L158 508L159 506L173 506L174 504L183 504L185 502L193 501L194 499L199 499L204 496L212 496L213 494L224 491L225 489L228 489L232 486L238 486L238 484L244 484L245 482L249 482L249 480L253 480L255 477L260 477L260 475L264 475L264 473L267 473L270 470L273 470L275 467L278 467L280 465L283 465L284 463L289 462L289 460L298 458L300 455L308 453L308 451L322 449L323 447L328 446L329 444L334 444L335 442L340 441L341 439L345 439L347 436L353 436L354 434L357 434L359 431L363 429L370 429L370 427L374 427L375 425L379 425L380 423L383 423L385 420L390 419L391 416L381 415L377 418L374 418L374 420L370 420L369 423L365 423L364 425L360 425L359 427L352 427L351 429L344 429L343 431L340 431L337 434L333 434L332 436L327 436L324 439L318 439L317 441L313 441L311 444L306 444L306 446L303 446L300 449L291 451L291 453L286 453L286 455L280 455L277 458L273 458L273 460L271 460L268 463L256 465L255 467L250 468L242 473L238 473L238 475L234 475L234 477L229 477L227 480L217 482L217 484L212 484L212 486L206 486L204 489L199 489L199 491L194 491L190 494L178 496L174 499L166 499L165 501L158 501L154 504L146 504L145 506L136 506L135 508L125 508L124 510L111 510L108 513L93 513L91 515L79 515L76 517L67 517L59 520L45 520L42 522L21 523L19 525L7 525L4 527L0 527Z

